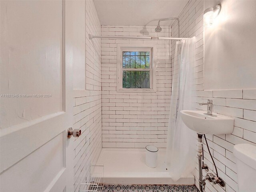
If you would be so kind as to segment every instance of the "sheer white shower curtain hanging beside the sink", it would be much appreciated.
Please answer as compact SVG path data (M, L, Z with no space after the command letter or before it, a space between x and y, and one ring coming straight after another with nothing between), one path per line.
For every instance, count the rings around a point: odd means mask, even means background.
M181 110L194 109L195 43L195 37L176 42L165 160L174 181L187 176L196 166L196 134L180 116Z

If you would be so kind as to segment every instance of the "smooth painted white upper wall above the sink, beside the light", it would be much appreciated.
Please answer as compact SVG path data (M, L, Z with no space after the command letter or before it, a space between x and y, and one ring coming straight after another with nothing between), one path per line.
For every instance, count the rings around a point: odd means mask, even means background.
M256 2L205 1L205 8L220 2L220 15L204 29L204 90L256 88Z

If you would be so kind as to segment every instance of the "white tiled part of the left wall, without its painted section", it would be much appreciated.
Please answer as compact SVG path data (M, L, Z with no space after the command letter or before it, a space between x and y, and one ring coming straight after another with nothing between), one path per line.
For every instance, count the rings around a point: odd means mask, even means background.
M80 2L81 3L81 2ZM74 125L82 134L74 141L74 191L86 180L90 162L95 162L102 148L101 42L89 40L89 34L101 34L101 25L92 0L84 1L86 89L74 90ZM83 33L84 33L83 32ZM74 74L75 75L75 74Z

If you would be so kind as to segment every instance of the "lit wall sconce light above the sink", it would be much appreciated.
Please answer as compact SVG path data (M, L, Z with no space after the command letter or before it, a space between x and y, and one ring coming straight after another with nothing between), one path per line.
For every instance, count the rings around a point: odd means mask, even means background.
M220 4L216 5L214 8L210 7L204 10L204 26L211 26L216 18L220 14L221 6Z

